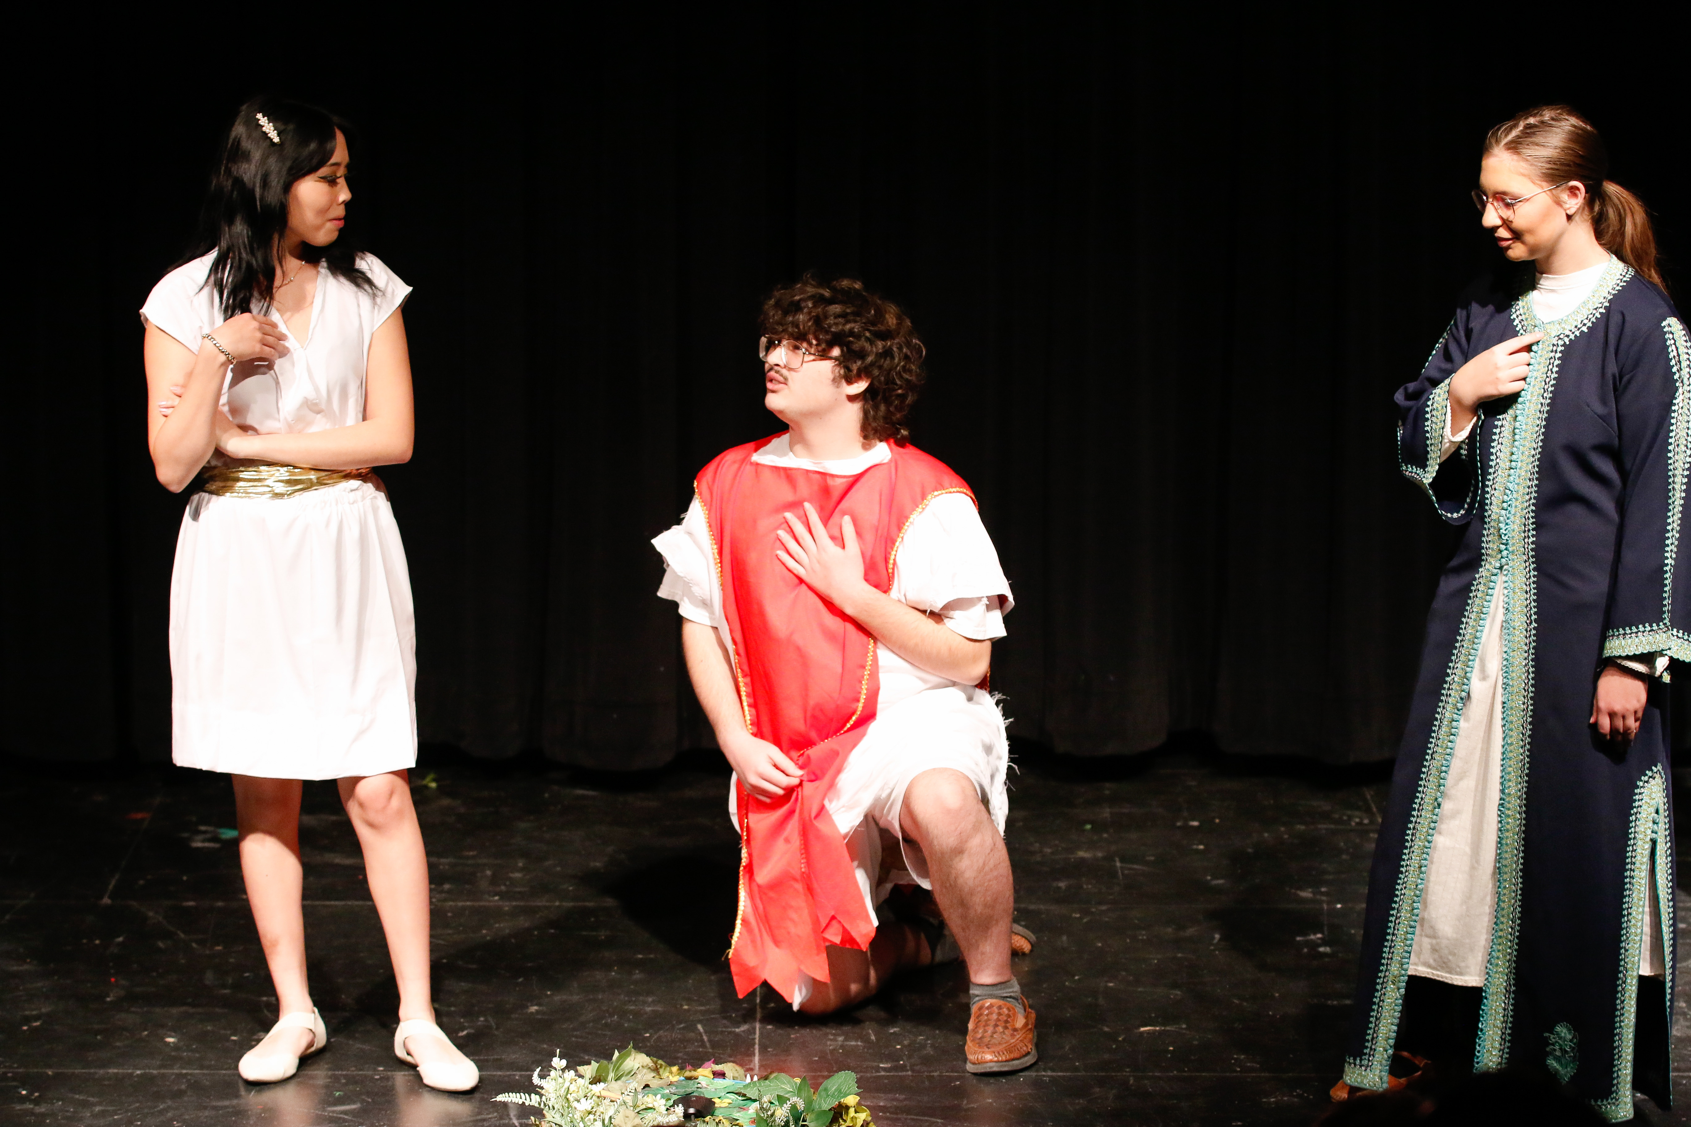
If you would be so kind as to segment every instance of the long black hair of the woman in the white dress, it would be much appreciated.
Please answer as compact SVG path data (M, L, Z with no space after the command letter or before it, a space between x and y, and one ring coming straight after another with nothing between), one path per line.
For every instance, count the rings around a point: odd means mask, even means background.
M287 231L287 193L335 159L335 130L352 130L333 113L301 101L260 95L235 113L223 145L223 162L211 177L200 235L183 262L216 250L206 286L225 318L269 309L274 297L277 247ZM375 282L358 269L352 231L328 247L306 243L306 262L316 262L358 289Z

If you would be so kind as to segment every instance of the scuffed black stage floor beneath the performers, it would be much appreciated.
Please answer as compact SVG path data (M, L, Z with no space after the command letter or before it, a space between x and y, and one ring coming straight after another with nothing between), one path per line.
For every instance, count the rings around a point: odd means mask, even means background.
M1383 769L1202 752L1020 760L1008 838L1018 919L1040 941L1018 975L1042 1059L977 1078L962 1070L960 968L910 975L829 1021L783 1012L766 990L734 997L720 956L737 843L717 757L638 779L424 759L413 781L440 1019L484 1076L458 1097L392 1058L397 999L331 784L308 786L303 828L313 994L331 1041L294 1080L255 1088L235 1061L274 1000L227 840L228 782L14 760L0 1120L523 1124L489 1097L526 1090L555 1049L582 1061L632 1041L670 1063L854 1070L881 1127L1312 1122L1338 1078ZM1676 1026L1684 1053L1684 1004Z

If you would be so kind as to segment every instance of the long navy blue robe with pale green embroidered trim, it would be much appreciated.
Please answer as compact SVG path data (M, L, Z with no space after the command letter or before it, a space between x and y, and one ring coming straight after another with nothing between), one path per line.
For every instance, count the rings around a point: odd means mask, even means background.
M1344 1080L1387 1086L1444 777L1502 585L1497 909L1475 1068L1549 1064L1618 1122L1632 1117L1634 1088L1669 1100L1666 686L1652 681L1625 752L1588 720L1603 657L1691 661L1691 529L1681 529L1691 345L1667 296L1618 259L1559 321L1534 314L1532 280L1530 265L1508 267L1475 286L1420 378L1397 394L1402 470L1463 539L1427 620L1375 848ZM1481 404L1461 449L1441 461L1451 375L1535 331L1549 336L1532 346L1525 390ZM1666 990L1637 977L1650 896L1662 907Z

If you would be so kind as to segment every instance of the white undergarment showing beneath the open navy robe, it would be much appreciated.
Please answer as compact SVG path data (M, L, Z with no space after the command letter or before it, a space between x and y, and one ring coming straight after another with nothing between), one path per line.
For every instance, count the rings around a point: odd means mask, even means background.
M1556 321L1573 313L1596 286L1608 262L1574 274L1541 274L1532 291L1534 313ZM1444 456L1468 439L1444 429ZM1491 916L1497 907L1497 809L1503 769L1503 585L1491 593L1480 654L1456 728L1456 747L1439 803L1439 821L1427 858L1427 882L1415 926L1409 973L1458 987L1483 987L1491 951ZM1666 659L1654 662L1655 671ZM1649 885L1655 887L1650 875ZM1650 897L1644 921L1639 973L1664 973L1661 906Z

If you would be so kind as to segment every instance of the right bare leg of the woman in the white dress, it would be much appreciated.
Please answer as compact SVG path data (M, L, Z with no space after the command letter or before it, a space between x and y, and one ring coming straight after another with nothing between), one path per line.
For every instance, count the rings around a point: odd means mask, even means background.
M370 899L375 901L375 912L387 934L387 955L399 983L399 1021L435 1021L428 946L428 853L423 852L423 830L411 804L409 779L404 770L342 779L340 801L358 831ZM421 1063L436 1054L451 1059L445 1056L450 1048L435 1037L411 1037L409 1049Z

